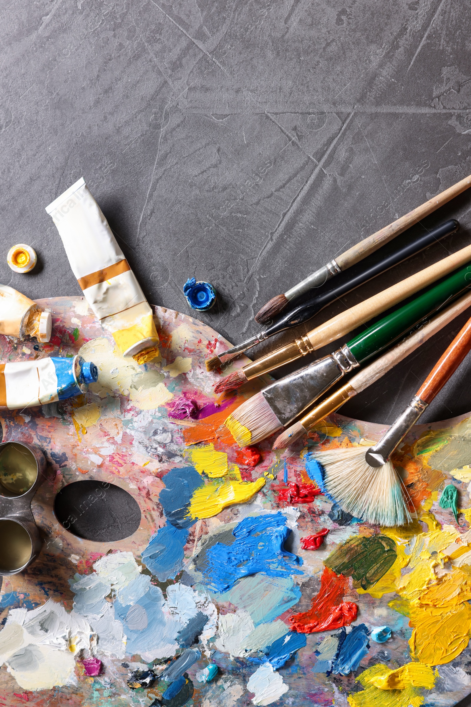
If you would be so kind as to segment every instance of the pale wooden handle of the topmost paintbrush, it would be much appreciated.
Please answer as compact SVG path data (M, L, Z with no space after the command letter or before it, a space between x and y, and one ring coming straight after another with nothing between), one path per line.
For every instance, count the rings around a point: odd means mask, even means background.
M368 238L357 243L357 245L353 245L348 250L345 250L345 253L335 258L335 262L338 264L338 267L340 267L340 270L346 270L367 255L370 255L370 253L374 253L381 245L389 243L396 235L403 233L403 231L413 226L414 223L420 221L424 216L428 216L436 209L439 209L440 206L446 204L447 201L451 201L451 199L457 197L458 194L461 194L470 186L471 175L457 182L453 187L445 189L441 194L437 194L436 197L429 199L429 201L426 201L422 206L417 206L417 209L412 209L412 211L409 211L405 216L401 216L397 221L390 223L389 226L377 230L373 235L369 235Z

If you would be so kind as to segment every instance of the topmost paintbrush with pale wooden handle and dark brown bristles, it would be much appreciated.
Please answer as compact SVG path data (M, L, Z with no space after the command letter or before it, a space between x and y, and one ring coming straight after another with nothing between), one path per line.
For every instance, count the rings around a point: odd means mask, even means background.
M412 209L412 211L409 211L409 213L405 214L405 216L401 216L397 219L397 221L390 223L389 226L385 226L384 228L377 230L376 233L373 233L373 235L369 235L368 238L365 238L360 243L357 243L357 245L352 246L342 253L342 255L338 255L334 260L331 260L326 265L323 265L323 267L307 276L304 280L287 292L273 297L266 303L266 305L263 305L261 310L256 314L255 321L259 324L264 324L270 319L273 319L273 317L280 314L280 312L282 312L287 304L294 300L294 298L301 296L312 288L320 287L331 277L335 277L343 270L352 267L355 263L366 258L367 255L370 255L371 253L374 253L375 250L378 250L381 245L388 243L390 240L395 238L396 235L403 233L407 230L407 228L413 226L414 223L420 221L421 218L424 218L424 216L428 216L436 209L439 209L440 206L443 206L443 204L446 204L447 201L457 197L458 194L461 194L470 186L471 175L469 177L465 177L465 179L460 182L457 182L453 185L453 187L445 189L444 192L437 194L436 197L429 199L429 201L425 201L422 206L417 206L417 209Z

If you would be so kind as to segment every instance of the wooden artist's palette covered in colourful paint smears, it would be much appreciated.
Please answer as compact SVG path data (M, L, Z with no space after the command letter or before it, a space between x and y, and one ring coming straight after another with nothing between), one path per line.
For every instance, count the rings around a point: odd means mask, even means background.
M282 455L261 443L253 467L221 425L260 384L213 396L204 359L229 346L213 329L155 308L162 359L138 366L83 298L40 303L50 344L2 338L0 360L80 352L100 376L81 398L0 412L4 441L38 445L55 472L32 501L42 552L3 580L0 705L446 706L471 691L469 416L413 429L395 462L418 518L380 530L332 508L304 457L382 426L334 415ZM439 506L448 483L458 523Z

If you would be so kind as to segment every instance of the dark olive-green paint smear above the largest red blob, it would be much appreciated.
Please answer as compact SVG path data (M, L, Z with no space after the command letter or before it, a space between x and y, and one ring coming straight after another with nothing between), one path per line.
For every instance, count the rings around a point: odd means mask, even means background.
M397 556L390 537L356 535L335 548L324 564L336 575L352 577L354 588L366 590L386 574Z

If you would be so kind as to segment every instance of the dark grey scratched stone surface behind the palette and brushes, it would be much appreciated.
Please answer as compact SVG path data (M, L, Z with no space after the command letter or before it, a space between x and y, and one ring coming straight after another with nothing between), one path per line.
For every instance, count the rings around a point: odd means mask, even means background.
M184 281L207 279L203 322L249 337L269 298L471 172L470 30L452 0L4 0L1 281L80 293L44 206L83 175L149 301L191 314ZM314 323L469 243L470 207L429 216L461 230ZM28 276L6 266L18 242ZM393 421L465 320L345 414ZM471 409L470 370L425 420Z

